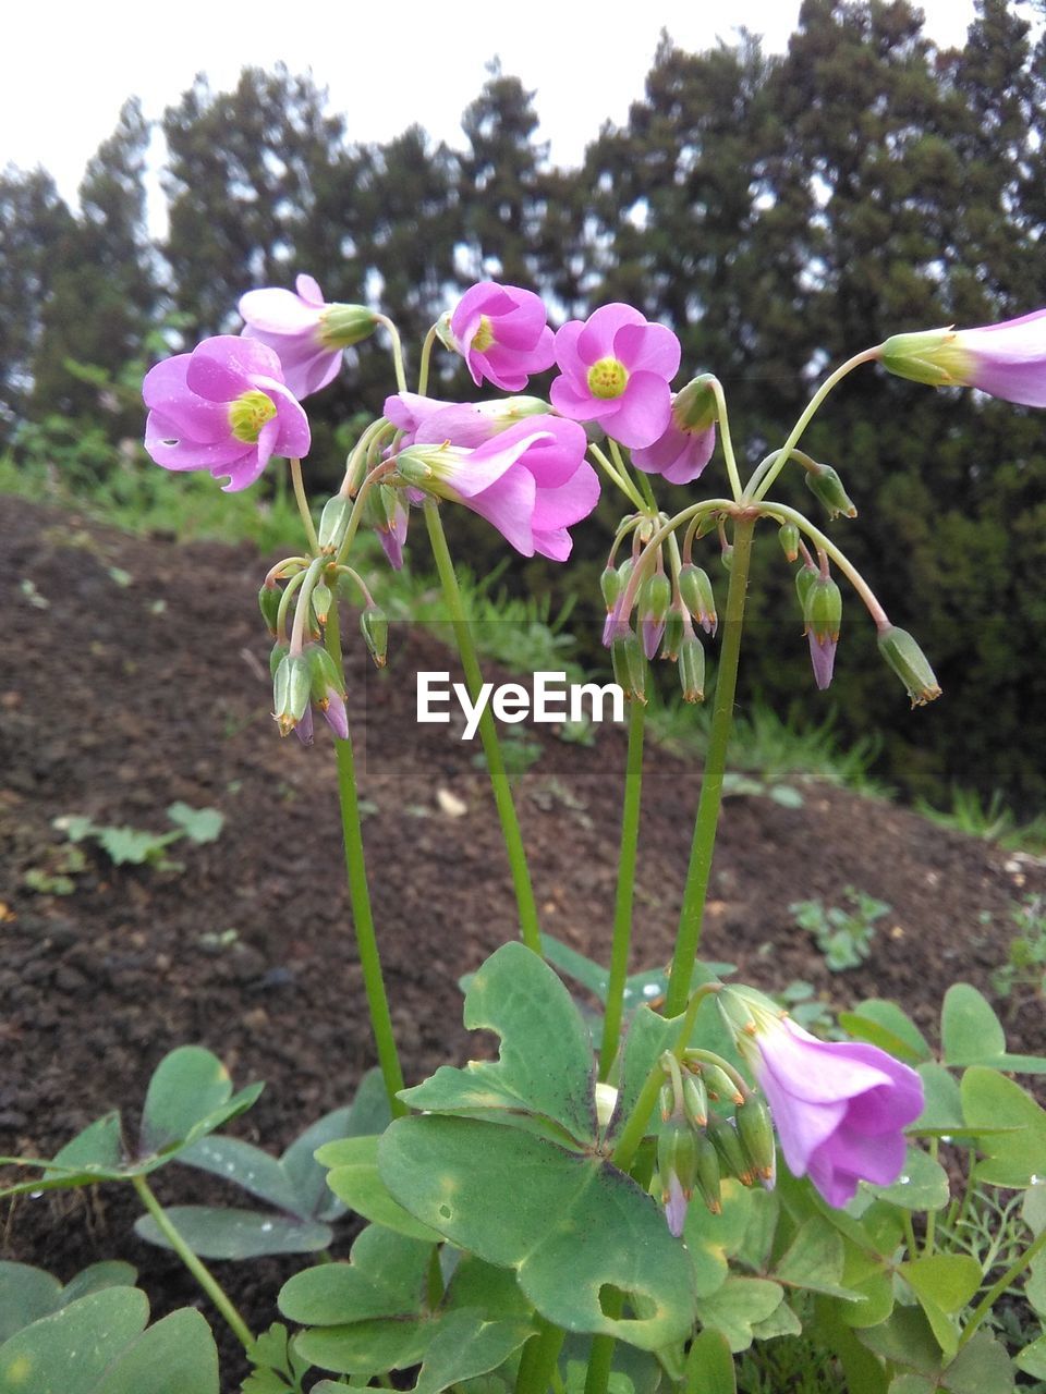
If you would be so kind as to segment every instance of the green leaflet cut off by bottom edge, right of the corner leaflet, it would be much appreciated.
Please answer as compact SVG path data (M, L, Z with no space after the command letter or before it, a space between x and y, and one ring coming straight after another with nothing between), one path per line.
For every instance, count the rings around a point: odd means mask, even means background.
M199 1312L181 1308L117 1355L92 1394L218 1394L218 1347Z

